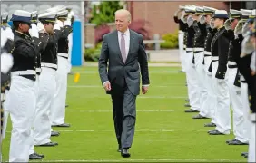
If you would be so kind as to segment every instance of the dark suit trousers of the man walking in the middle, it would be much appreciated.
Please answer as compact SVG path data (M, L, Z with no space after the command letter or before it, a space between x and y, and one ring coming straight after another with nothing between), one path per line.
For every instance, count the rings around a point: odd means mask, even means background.
M114 85L112 83L113 91L118 89ZM131 148L136 121L136 96L128 89L125 80L123 88L111 96L116 139L122 149Z

